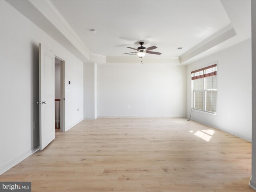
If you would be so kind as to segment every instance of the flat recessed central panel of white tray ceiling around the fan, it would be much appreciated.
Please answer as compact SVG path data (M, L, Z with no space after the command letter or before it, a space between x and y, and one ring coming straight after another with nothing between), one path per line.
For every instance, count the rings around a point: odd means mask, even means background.
M155 57L179 57L230 19L219 0L53 0L52 3L92 54L121 56L145 47ZM96 29L96 33L89 32ZM182 50L176 50L183 47ZM126 55L127 56L127 55ZM128 55L131 56L132 55ZM154 56L154 55L147 55Z

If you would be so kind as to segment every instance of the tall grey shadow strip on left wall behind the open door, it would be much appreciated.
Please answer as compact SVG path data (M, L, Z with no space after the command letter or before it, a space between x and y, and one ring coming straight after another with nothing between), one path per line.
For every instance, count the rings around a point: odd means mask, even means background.
M31 148L39 145L39 43L31 43Z

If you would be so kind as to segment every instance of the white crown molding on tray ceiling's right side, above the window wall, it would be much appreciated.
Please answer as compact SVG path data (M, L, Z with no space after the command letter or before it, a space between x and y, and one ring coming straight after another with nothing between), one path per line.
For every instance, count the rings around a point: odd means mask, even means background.
M236 36L236 31L234 30L232 24L229 24L182 54L180 56L180 62L183 63L194 56L228 40L229 38L232 38L233 36Z

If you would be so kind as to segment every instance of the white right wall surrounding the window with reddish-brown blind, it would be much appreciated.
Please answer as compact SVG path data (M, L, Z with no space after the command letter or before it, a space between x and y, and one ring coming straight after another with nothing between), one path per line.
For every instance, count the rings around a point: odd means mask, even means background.
M191 71L217 64L217 115L192 110L191 118L246 140L252 134L251 38L187 66L187 107L191 109ZM231 114L231 118L229 118Z

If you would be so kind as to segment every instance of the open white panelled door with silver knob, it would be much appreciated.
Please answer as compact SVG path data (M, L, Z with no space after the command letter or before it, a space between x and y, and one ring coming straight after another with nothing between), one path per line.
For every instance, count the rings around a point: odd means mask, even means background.
M40 150L55 138L54 62L51 50L39 44Z

